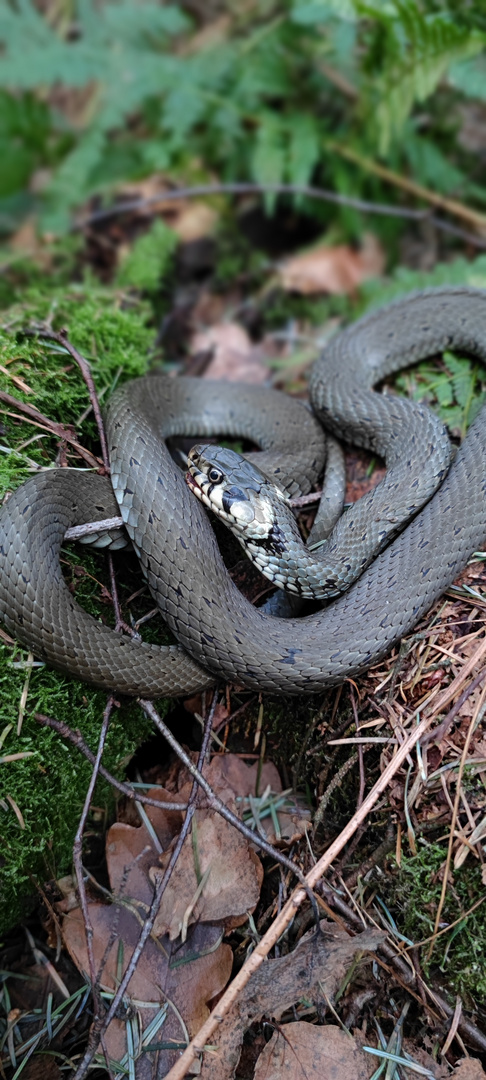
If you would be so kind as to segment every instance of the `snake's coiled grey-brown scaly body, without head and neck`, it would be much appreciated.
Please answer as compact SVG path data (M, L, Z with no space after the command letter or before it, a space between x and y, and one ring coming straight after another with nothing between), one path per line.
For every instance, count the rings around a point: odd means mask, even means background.
M314 365L311 401L326 428L380 453L389 465L378 494L367 500L370 527L359 508L357 524L348 512L338 530L354 529L355 539L364 536L365 542L375 532L370 544L379 551L397 528L395 492L416 515L324 609L283 620L241 596L206 512L163 441L215 431L246 436L264 447L258 456L264 472L288 494L305 494L325 457L315 417L302 403L272 391L153 376L126 383L109 404L112 489L106 478L58 469L33 476L4 503L1 621L53 666L133 696L191 693L217 678L258 690L316 692L366 670L486 541L486 407L443 480L445 436L438 421L422 406L370 389L399 367L454 347L486 362L486 293L451 287L406 297L339 334ZM417 478L428 463L432 480L417 495ZM179 646L158 648L116 634L82 612L64 583L58 552L66 529L113 516L113 490L150 591ZM369 556L356 549L353 559L359 572ZM349 553L345 561L348 565Z

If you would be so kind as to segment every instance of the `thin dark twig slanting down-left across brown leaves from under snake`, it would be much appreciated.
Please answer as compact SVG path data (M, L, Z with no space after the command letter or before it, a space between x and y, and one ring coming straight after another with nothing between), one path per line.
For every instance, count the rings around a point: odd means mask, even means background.
M198 770L200 770L200 769L203 768L204 761L205 761L205 758L206 758L207 747L208 747L210 739L211 739L211 730L212 730L212 726L213 726L213 717L214 717L214 713L215 713L215 708L216 708L216 701L217 701L217 694L215 693L214 698L213 698L213 703L211 705L211 710L210 710L210 713L208 713L208 716L207 716L207 719L206 719L206 725L205 725L205 728L204 728L204 734L203 734L202 745L201 745L201 750L200 750L199 757L198 757ZM194 778L194 781L193 781L193 784L192 784L192 788L191 788L191 793L190 793L189 800L188 800L187 813L186 813L186 818L185 818L185 821L184 821L184 824L183 824L183 828L180 829L179 836L177 838L177 842L176 842L176 845L174 847L174 850L172 852L172 855L171 855L171 859L170 859L168 864L166 866L166 869L165 869L164 874L162 875L162 877L160 878L160 880L157 883L156 891L153 893L152 903L150 904L150 908L148 910L147 918L144 921L144 926L143 926L140 935L138 937L137 944L135 945L135 948L134 948L134 950L132 953L132 956L131 956L131 959L130 959L130 963L127 964L125 973L124 973L124 975L122 976L122 978L120 981L120 985L119 985L118 990L117 990L117 993L116 993L116 995L114 995L114 997L113 997L113 999L111 1001L110 1008L108 1009L108 1012L106 1013L106 1015L105 1015L105 1017L103 1020L103 1025L100 1025L99 1023L97 1025L96 1024L93 1025L92 1032L91 1032L91 1036L90 1036L90 1044L87 1047L87 1050L86 1050L86 1052L84 1054L84 1057L83 1057L81 1064L79 1065L79 1067L78 1067L78 1069L77 1069L77 1071L76 1071L72 1080L83 1080L83 1078L85 1077L85 1075L86 1075L86 1072L87 1072L87 1070L89 1070L89 1068L91 1066L93 1057L94 1057L94 1055L96 1053L96 1047L97 1047L98 1040L100 1040L103 1038L103 1034L102 1032L105 1032L107 1030L109 1024L111 1024L111 1021L117 1015L118 1009L119 1009L120 1003L121 1003L121 1001L123 999L123 996L124 996L124 994L126 991L126 988L129 986L130 980L132 978L132 975L135 972L136 966L137 966L138 960L139 960L139 958L141 956L141 953L143 953L143 950L145 948L146 942L148 941L148 937L150 936L150 934L151 934L151 932L153 930L153 924L154 924L154 921L156 921L157 914L159 912L159 907L160 907L160 903L161 903L163 893L165 892L165 889L166 889L166 887L168 885L168 881L170 881L170 878L171 878L172 873L174 870L174 867L176 865L176 862L177 862L177 860L179 858L179 854L180 854L184 841L185 841L185 839L186 839L186 837L187 837L187 835L189 833L189 828L191 826L192 818L193 818L194 811L195 811L195 799L197 799L197 795L198 795L198 789L199 789L199 783L198 783L198 780Z

